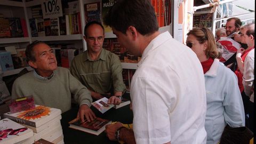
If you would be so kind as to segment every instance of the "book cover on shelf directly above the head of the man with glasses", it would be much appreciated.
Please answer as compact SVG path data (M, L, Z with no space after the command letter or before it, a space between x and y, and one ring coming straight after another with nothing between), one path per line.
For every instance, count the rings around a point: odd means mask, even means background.
M84 4L84 15L86 23L90 21L101 22L101 6L100 2Z

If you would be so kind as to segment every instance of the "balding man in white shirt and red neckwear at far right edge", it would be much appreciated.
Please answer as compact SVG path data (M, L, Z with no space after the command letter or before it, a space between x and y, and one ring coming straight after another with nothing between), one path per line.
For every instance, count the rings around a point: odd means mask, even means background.
M244 106L246 107L249 114L249 121L247 126L251 131L254 132L254 23L249 23L248 25L243 26L241 30L242 42L248 45L248 48L245 50L243 48L237 50L236 60L239 70L243 72L242 84L244 87L244 93L247 98L244 100ZM239 66L241 65L241 66ZM239 81L239 79L238 79Z

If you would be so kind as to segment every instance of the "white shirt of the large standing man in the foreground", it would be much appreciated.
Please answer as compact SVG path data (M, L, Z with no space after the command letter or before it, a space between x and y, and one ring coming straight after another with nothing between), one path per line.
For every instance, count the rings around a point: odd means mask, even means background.
M137 143L206 143L201 63L165 32L149 43L131 83Z

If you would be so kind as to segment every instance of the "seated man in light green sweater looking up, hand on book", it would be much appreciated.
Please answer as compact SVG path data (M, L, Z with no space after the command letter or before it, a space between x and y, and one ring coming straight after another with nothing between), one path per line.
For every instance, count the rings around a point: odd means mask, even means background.
M90 109L92 98L69 70L57 67L57 60L51 47L35 41L26 48L26 58L33 71L17 78L12 87L12 99L33 95L35 104L58 108L62 113L71 108L71 94L79 104L78 118L92 121L95 117Z

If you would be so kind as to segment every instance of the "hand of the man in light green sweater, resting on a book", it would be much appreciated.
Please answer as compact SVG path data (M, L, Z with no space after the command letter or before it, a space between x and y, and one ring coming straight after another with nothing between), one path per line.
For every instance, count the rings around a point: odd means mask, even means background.
M85 104L80 106L77 113L77 118L80 118L82 122L84 122L84 117L88 122L93 121L93 119L96 117L90 107Z

